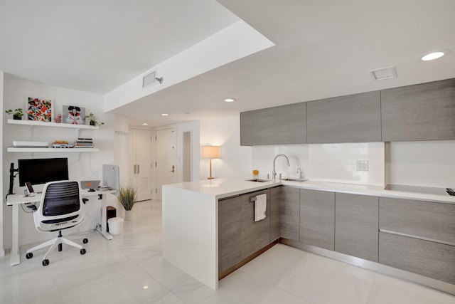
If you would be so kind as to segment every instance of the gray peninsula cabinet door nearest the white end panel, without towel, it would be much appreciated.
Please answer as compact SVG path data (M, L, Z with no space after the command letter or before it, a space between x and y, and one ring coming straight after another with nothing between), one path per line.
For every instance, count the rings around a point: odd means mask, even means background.
M242 203L236 196L218 201L218 273L242 261Z

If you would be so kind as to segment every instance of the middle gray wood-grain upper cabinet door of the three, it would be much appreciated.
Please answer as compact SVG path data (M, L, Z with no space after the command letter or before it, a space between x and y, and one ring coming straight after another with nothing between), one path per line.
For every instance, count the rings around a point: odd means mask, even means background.
M380 142L380 91L310 101L307 143Z

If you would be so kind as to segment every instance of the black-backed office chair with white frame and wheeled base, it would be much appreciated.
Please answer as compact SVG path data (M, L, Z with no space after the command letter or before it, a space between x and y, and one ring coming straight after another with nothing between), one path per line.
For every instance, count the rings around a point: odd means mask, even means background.
M62 230L82 224L84 204L80 194L79 182L59 181L48 182L44 185L41 203L33 213L36 229L40 232L58 231L58 237L28 249L26 258L32 258L33 252L37 249L50 246L48 252L43 256L43 266L49 265L48 254L58 246L58 251L62 251L62 243L80 249L80 254L85 254L85 248L65 239ZM87 243L88 239L83 239Z

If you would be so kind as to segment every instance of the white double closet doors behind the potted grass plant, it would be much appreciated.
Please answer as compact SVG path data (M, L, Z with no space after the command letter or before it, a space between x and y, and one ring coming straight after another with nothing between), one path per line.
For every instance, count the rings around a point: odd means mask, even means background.
M129 183L137 189L137 200L151 199L151 131L129 129Z

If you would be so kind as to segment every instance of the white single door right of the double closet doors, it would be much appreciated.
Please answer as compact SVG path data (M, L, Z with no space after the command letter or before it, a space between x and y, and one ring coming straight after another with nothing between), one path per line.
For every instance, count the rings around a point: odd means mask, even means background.
M156 130L156 199L162 199L161 187L176 182L176 129Z

